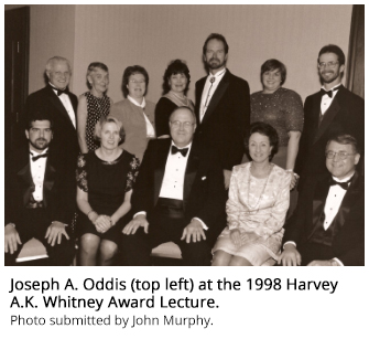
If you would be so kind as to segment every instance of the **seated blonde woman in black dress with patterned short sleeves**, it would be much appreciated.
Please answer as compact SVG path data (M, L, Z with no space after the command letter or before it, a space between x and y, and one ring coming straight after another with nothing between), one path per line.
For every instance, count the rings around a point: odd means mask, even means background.
M111 264L118 252L126 214L131 209L132 186L140 161L118 147L124 140L122 124L102 117L95 136L100 147L82 155L77 163L77 205L83 266Z

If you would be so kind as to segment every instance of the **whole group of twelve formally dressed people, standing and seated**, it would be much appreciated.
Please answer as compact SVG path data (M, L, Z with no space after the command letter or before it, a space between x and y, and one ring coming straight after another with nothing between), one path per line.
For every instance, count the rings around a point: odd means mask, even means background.
M6 163L6 264L36 237L68 265L77 237L80 265L150 265L165 242L184 265L363 265L365 110L341 85L343 51L319 51L323 86L303 105L273 59L250 95L228 50L221 34L206 39L195 104L181 60L155 105L142 66L124 70L113 104L104 63L77 99L68 61L50 59L48 84L25 103L28 145Z

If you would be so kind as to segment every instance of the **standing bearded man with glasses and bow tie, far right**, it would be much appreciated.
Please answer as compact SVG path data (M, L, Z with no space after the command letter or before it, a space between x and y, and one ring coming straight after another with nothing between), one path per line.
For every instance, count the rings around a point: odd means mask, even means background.
M317 70L323 86L319 92L308 96L304 105L304 129L295 166L295 171L301 176L299 189L304 186L306 177L327 172L325 146L333 135L351 135L363 150L363 99L341 84L345 71L341 49L333 44L324 46L318 55Z

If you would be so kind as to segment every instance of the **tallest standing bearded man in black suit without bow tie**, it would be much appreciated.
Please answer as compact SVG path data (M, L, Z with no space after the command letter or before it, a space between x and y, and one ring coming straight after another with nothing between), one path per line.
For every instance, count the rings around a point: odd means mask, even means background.
M203 46L208 76L196 83L196 138L219 152L229 188L232 167L242 161L243 140L250 126L248 83L226 68L228 43L221 34L210 34Z

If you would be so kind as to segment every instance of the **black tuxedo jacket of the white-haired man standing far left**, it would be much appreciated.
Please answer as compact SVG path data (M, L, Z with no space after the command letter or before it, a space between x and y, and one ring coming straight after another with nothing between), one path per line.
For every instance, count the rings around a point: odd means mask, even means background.
M68 94L73 109L77 114L78 99L73 94ZM57 149L59 153L67 155L67 161L70 167L76 167L77 156L79 152L79 145L76 128L64 108L62 102L54 93L50 85L29 95L25 102L26 116L34 110L41 110L53 119L54 134L52 146ZM77 118L76 118L77 121Z

